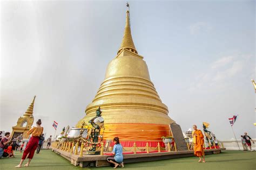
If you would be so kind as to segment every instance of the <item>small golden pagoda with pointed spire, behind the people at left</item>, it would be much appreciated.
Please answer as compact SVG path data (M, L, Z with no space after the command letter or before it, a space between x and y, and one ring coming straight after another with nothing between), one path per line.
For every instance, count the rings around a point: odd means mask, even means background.
M18 118L17 125L12 126L11 138L15 138L19 136L19 134L23 134L24 139L28 139L29 136L26 132L31 128L34 117L33 117L33 107L36 96L34 96L32 103L29 105L29 108L26 109L26 112L23 116Z

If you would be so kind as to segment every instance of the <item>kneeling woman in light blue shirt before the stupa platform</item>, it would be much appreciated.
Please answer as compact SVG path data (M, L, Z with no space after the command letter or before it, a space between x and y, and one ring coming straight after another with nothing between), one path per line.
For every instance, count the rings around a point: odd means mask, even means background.
M111 163L111 166L117 168L119 165L124 167L123 162L123 146L119 142L119 138L114 138L114 147L112 151L114 157L107 157L107 161Z

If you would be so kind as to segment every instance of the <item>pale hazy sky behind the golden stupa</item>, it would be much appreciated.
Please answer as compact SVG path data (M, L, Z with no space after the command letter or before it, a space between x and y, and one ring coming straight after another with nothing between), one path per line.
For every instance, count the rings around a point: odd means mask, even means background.
M0 130L36 95L46 137L75 126L122 41L126 1L1 1ZM255 138L255 1L130 1L134 44L186 131ZM34 125L35 125L34 122Z

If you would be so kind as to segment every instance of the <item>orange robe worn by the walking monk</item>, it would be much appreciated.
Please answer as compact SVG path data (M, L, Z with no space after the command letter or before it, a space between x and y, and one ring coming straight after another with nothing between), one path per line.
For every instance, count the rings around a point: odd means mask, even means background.
M196 131L193 131L193 134L197 134L196 137L196 140L194 143L194 155L196 155L197 157L201 157L203 155L205 155L205 152L204 152L204 134L202 133L201 130L196 130Z

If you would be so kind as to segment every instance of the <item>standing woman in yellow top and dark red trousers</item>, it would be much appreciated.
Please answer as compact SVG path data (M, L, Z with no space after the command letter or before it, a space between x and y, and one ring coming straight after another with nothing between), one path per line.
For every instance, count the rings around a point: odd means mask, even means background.
M38 119L38 121L36 122L36 127L33 127L28 131L28 134L31 134L32 137L29 139L29 142L26 145L26 148L22 155L21 162L19 162L19 165L16 166L17 168L22 167L23 161L26 159L26 156L28 154L29 154L28 155L29 161L28 161L28 163L26 163L25 166L29 166L30 161L32 160L33 155L38 146L39 137L41 136L41 134L43 133L43 130L44 130L44 128L41 126L41 124L42 124L41 119Z

